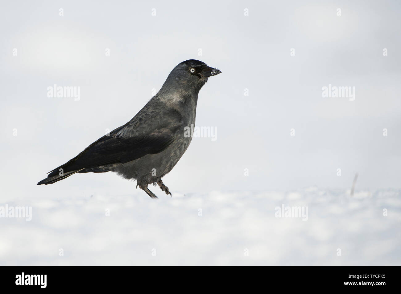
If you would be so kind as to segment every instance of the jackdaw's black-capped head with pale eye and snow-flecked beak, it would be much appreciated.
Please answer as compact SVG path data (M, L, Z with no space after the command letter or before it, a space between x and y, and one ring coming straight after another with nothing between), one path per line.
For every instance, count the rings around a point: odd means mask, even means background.
M220 70L207 66L205 62L190 59L173 68L163 87L178 87L180 90L197 94L210 76L220 73Z

